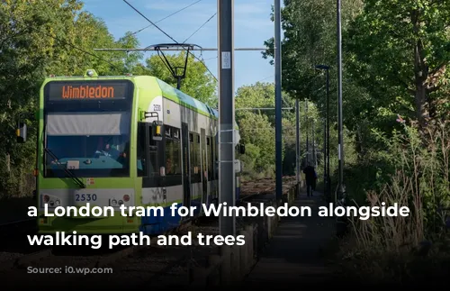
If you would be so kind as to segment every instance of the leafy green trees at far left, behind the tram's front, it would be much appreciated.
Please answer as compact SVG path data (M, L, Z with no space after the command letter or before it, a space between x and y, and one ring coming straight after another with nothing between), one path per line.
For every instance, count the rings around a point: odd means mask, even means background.
M137 54L92 52L95 46L131 47L126 35L114 41L104 23L82 11L75 0L3 1L0 4L0 189L3 193L31 193L23 187L34 167L38 96L44 77L82 75L87 68L100 74L123 74ZM130 59L127 59L130 58ZM18 145L18 117L29 125L28 141ZM30 186L33 186L30 183ZM0 193L0 196L3 194Z

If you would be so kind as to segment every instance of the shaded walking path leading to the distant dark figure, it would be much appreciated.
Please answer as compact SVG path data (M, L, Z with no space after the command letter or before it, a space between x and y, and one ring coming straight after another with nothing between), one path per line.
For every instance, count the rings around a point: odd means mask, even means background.
M245 286L284 286L291 283L330 283L332 272L326 266L324 249L335 235L332 217L320 217L321 195L302 193L294 205L310 206L311 217L284 217L270 245L248 275Z

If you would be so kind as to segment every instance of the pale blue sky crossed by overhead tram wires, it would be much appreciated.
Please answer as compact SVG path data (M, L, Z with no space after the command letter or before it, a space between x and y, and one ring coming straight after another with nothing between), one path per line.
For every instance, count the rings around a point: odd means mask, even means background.
M156 23L198 0L127 1L150 21ZM84 9L101 18L116 40L125 32L137 32L150 24L122 0L83 0L83 2ZM270 20L271 5L274 5L274 0L234 1L235 48L262 48L264 41L274 36L275 27ZM215 13L217 13L217 0L201 0L156 24L175 41L182 42ZM216 14L185 42L197 44L203 48L217 48L217 20ZM137 33L136 36L139 39L140 48L157 43L174 42L154 26ZM146 52L144 58L156 53L156 51ZM194 53L202 56L206 66L217 77L217 51L194 51ZM269 59L262 58L261 51L235 51L234 66L235 91L239 86L251 85L258 81L274 82L275 68L269 64Z

